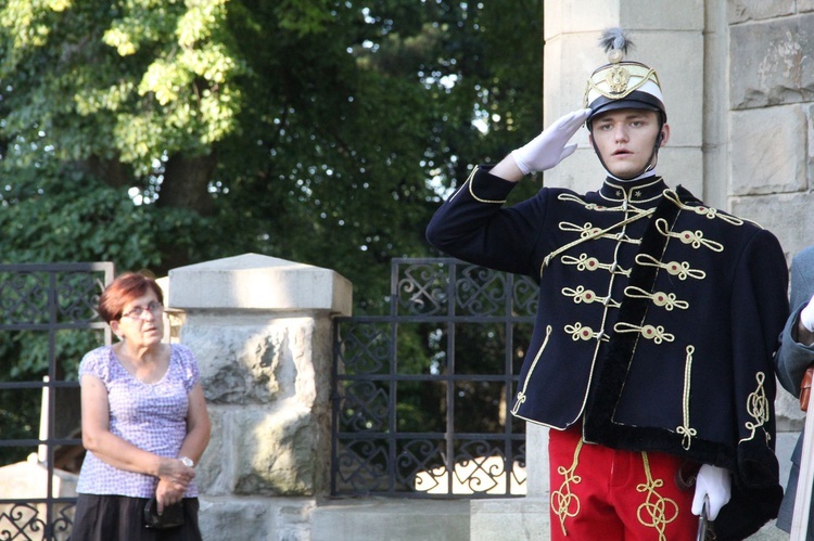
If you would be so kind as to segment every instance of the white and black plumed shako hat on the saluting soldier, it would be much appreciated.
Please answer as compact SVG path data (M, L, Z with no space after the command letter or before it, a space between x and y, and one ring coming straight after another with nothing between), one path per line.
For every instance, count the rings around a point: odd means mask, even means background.
M633 42L622 28L602 31L599 44L608 53L608 64L598 67L585 86L583 106L592 110L586 121L590 129L594 117L606 111L620 108L645 108L661 113L666 123L667 112L661 94L656 69L639 62L624 60Z

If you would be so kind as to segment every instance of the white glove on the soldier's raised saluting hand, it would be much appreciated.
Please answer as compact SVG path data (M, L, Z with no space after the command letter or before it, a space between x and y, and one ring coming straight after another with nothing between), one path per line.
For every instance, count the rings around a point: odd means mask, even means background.
M568 141L576 133L580 126L590 115L589 108L574 111L562 116L530 142L511 152L523 175L531 171L545 171L569 157L576 150L576 144Z

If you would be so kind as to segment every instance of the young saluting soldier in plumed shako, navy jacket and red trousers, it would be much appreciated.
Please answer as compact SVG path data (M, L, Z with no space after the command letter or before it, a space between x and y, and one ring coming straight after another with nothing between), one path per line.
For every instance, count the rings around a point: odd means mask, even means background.
M656 172L670 139L656 70L600 43L583 108L437 209L440 250L539 284L512 413L549 430L552 540L696 539L709 502L720 541L777 516L777 338L788 269L777 239ZM517 182L574 152L585 124L607 178L580 194ZM698 175L687 171L688 175ZM532 452L530 449L529 452Z

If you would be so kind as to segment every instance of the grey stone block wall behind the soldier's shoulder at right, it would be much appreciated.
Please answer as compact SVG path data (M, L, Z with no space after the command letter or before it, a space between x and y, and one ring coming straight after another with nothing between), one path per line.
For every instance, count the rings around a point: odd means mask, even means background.
M814 244L814 1L730 0L732 210L773 231L791 261Z

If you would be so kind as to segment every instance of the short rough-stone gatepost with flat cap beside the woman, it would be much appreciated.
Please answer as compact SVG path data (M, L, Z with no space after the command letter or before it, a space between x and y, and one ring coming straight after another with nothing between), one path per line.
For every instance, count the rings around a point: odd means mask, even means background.
M213 539L277 539L287 529L300 539L329 488L331 318L351 314L351 283L256 254L168 278L213 421L198 468L202 528Z

